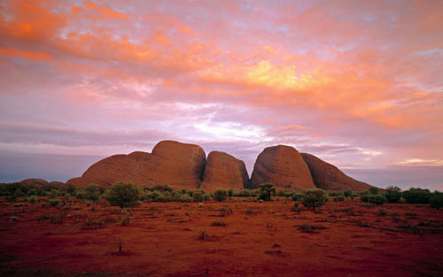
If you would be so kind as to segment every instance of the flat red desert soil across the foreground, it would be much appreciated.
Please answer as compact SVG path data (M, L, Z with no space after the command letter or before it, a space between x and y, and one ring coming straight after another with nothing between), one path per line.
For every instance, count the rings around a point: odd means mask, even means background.
M428 205L345 201L298 213L284 198L245 200L143 204L131 210L127 226L105 202L4 202L0 275L443 275L443 211ZM216 221L226 226L213 226ZM325 228L300 228L305 224Z

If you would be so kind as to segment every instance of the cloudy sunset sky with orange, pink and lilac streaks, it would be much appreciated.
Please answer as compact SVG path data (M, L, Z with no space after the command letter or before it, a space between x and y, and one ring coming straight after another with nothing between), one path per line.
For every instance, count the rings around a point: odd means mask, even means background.
M443 189L443 1L2 1L0 181L162 140Z

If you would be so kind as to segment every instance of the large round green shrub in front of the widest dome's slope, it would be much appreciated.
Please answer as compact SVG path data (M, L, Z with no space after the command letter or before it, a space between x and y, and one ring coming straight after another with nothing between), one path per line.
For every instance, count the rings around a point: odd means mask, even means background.
M121 209L141 204L142 190L134 184L119 182L105 191L105 199Z

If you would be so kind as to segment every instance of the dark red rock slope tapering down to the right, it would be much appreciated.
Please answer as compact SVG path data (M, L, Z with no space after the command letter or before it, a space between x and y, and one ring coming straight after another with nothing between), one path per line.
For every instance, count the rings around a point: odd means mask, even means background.
M315 186L320 189L361 191L370 188L369 184L354 180L341 172L337 166L330 165L314 155L307 153L300 155L311 171Z

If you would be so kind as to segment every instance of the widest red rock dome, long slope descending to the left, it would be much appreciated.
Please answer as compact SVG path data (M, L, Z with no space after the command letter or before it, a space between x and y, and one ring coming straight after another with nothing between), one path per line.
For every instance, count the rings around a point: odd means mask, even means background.
M125 181L140 186L168 184L175 189L196 189L205 164L205 151L198 145L163 141L157 143L152 154L137 151L104 158L91 165L82 177L66 183L110 186Z

